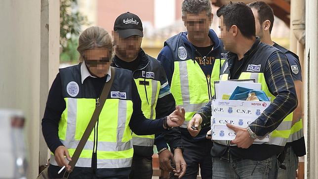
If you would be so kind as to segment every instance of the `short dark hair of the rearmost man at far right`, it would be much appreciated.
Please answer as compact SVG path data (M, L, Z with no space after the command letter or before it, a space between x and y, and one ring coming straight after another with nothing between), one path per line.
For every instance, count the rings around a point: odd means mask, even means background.
M264 21L269 20L271 22L270 25L270 33L272 32L274 25L274 12L270 5L263 1L255 1L247 4L250 8L255 8L258 13L259 23L262 24Z

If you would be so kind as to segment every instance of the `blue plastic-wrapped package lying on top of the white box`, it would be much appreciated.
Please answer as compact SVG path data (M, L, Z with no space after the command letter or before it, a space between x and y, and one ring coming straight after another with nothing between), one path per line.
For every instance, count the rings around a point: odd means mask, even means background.
M253 95L256 95L259 101L270 101L264 91L253 90L243 87L237 87L233 91L230 100L246 100L251 93L254 93Z

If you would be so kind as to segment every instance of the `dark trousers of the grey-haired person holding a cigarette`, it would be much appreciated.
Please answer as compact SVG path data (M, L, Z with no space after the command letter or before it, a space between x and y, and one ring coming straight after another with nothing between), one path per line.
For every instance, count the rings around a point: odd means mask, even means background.
M63 178L64 171L61 174L57 172L61 169L59 166L50 165L48 167L48 176L50 179L61 179ZM131 168L121 169L97 169L87 167L75 167L73 172L70 174L69 179L128 179Z

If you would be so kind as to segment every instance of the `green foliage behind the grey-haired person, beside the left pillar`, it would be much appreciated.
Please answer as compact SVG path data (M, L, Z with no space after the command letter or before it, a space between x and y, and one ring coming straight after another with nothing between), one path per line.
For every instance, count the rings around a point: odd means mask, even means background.
M88 22L87 17L79 12L77 0L60 0L61 62L72 62L79 59L76 49L81 25L88 25Z

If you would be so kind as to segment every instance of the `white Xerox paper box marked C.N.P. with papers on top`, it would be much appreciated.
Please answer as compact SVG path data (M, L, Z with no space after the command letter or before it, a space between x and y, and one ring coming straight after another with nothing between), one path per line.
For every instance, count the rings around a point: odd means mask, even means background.
M211 103L212 116L211 116L211 130L212 130L212 140L233 140L236 136L235 132L229 129L226 124L232 124L241 128L246 128L249 124L254 122L262 112L270 105L269 101L246 101L246 100L226 100L222 99L220 96L229 96L231 93L224 89L233 90L239 86L244 86L245 88L250 88L254 90L260 90L260 84L249 82L226 82L229 85L228 88L219 86L222 91L215 91L216 99ZM245 84L244 84L245 83ZM218 85L222 85L221 83ZM230 87L231 86L231 87ZM217 90L217 88L216 88ZM221 99L220 99L221 98ZM224 98L224 97L223 97ZM267 135L262 139L255 139L254 143L264 143L269 141L269 136Z

